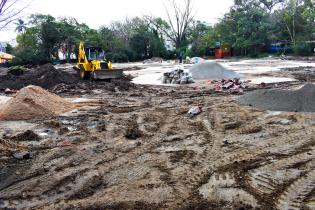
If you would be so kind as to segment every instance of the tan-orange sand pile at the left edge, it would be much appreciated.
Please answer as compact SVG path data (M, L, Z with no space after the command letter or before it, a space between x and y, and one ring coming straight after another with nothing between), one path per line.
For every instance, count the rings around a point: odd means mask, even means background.
M56 116L74 105L41 87L28 86L0 107L0 120L28 120Z

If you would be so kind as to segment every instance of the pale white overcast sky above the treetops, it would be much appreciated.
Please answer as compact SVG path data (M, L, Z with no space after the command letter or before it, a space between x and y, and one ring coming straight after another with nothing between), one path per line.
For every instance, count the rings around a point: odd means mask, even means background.
M228 12L233 4L233 0L193 2L195 18L212 24ZM33 0L24 15L41 13L54 17L74 17L80 23L98 29L102 25L125 17L153 15L166 18L164 5L169 5L168 0ZM14 25L0 31L0 41L11 41L15 37Z

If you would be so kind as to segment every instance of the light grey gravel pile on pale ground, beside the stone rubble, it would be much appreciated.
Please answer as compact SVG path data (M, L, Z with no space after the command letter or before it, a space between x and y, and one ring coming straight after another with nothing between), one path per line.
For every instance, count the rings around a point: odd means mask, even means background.
M191 73L195 80L220 80L241 77L241 75L226 69L216 62L198 63L189 69L189 73Z

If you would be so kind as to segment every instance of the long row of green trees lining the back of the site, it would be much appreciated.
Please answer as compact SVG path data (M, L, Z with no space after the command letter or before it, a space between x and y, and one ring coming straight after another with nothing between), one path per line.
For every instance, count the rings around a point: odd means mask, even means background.
M77 54L80 41L86 46L102 47L107 59L114 62L174 58L174 54L207 56L216 43L231 45L235 54L241 56L259 57L273 43L289 44L296 54L306 55L310 53L307 41L315 39L315 3L235 0L215 26L189 19L185 27L178 34L169 20L145 16L116 21L95 30L74 18L36 14L27 23L16 22L18 45L14 49L8 46L7 52L15 55L12 61L15 65L59 60L59 51L69 61L71 53ZM167 51L164 39L173 42L176 50Z

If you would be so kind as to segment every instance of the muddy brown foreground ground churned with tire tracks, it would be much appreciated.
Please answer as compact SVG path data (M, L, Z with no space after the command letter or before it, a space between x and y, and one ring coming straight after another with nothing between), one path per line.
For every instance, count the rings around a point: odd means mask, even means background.
M0 209L315 209L315 113L104 84L53 88L81 107L62 116L0 122Z

